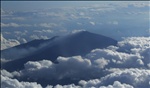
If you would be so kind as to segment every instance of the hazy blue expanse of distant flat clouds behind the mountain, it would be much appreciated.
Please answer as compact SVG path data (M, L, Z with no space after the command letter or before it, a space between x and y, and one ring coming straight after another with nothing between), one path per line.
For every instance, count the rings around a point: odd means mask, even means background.
M68 34L73 30L87 30L116 40L149 35L149 3L86 3L70 7L41 7L29 11L8 10L2 6L1 50L34 39Z

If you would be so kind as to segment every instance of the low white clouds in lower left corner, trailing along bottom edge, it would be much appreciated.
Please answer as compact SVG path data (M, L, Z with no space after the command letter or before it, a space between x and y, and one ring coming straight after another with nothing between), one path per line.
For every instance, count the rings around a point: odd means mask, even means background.
M45 64L45 63L43 63ZM68 84L68 85L59 85L56 86L47 85L46 87L42 87L41 84L36 82L24 82L18 81L17 79L13 78L14 76L18 75L17 72L9 73L6 70L1 70L1 87L2 88L81 88L80 86L76 86L75 84Z

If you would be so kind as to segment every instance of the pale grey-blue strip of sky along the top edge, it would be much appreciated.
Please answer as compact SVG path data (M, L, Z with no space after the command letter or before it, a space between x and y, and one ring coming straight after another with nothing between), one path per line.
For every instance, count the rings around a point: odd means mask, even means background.
M51 7L88 6L103 3L124 3L127 1L2 1L1 7L6 10L34 10ZM130 1L139 2L139 1ZM140 3L146 1L140 1Z

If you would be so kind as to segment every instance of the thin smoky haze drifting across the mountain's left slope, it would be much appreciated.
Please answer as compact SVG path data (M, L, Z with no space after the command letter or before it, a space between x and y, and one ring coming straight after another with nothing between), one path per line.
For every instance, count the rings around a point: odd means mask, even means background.
M36 40L34 40L34 41L36 41ZM6 50L6 51L1 52L1 58L6 59L6 61L7 60L20 59L22 57L28 56L31 53L34 53L38 50L41 50L43 47L48 46L50 43L51 42L41 43L41 44L37 45L36 47L32 46L32 45L31 46L29 45L26 48L13 47L10 50ZM5 62L5 60L2 60L2 61Z

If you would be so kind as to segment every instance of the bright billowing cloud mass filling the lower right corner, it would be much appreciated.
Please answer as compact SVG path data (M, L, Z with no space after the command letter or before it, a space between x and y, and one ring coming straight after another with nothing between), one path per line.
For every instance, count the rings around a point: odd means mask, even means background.
M112 73L101 79L79 82L83 88L147 88L150 86L150 71L145 69L110 69ZM123 84L121 84L123 83ZM112 85L110 85L112 84ZM104 85L108 85L105 87Z

